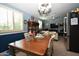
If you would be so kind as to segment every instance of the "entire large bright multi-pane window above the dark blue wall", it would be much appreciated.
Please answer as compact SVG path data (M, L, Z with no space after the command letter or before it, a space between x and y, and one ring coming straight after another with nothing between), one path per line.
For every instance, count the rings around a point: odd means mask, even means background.
M22 31L23 14L20 11L0 6L0 31Z

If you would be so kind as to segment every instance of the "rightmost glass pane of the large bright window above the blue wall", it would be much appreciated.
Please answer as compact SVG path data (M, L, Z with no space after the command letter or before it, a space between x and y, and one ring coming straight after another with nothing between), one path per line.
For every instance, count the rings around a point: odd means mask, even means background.
M14 11L14 29L19 30L23 28L23 20L22 20L23 16L22 13L18 12L18 11Z

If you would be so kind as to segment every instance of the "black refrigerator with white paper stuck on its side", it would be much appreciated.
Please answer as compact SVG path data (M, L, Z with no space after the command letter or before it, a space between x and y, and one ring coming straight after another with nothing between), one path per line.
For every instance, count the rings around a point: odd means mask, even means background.
M67 33L67 50L79 52L79 14L77 12L69 12L64 19L65 29Z

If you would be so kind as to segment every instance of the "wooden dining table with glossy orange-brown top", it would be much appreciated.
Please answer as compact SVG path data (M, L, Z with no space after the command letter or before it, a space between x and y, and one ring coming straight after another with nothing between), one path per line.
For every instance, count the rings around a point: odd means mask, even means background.
M32 38L30 41L27 41L27 39L15 41L9 44L9 50L12 55L15 55L15 50L17 49L26 54L43 56L47 51L50 38L51 36L47 35L42 39Z

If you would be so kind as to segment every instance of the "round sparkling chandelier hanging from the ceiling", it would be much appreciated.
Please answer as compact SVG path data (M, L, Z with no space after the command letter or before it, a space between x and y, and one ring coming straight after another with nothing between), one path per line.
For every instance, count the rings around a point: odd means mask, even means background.
M51 4L50 3L40 4L38 12L40 16L47 16L51 12Z

